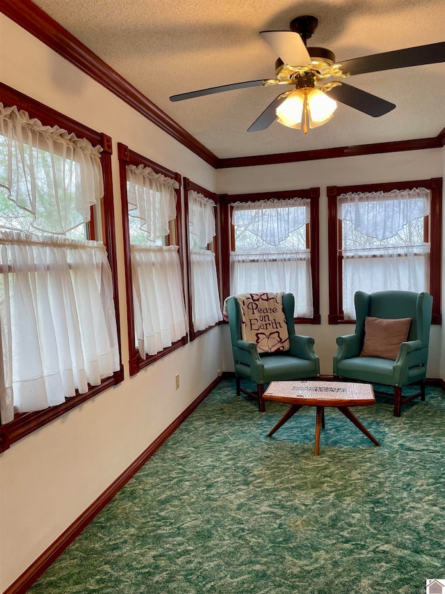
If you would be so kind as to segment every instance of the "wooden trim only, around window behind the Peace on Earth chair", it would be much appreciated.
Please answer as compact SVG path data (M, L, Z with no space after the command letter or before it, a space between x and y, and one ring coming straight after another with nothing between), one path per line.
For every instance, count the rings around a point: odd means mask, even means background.
M312 318L294 318L296 324L320 324L320 223L319 199L320 188L286 190L284 192L256 192L254 194L220 194L220 223L221 223L221 263L223 278L221 279L223 299L229 297L230 290L230 251L232 247L231 209L234 202L250 202L259 200L286 200L289 198L309 198L311 224L309 242L311 244L311 269L312 269L312 300L314 315Z

